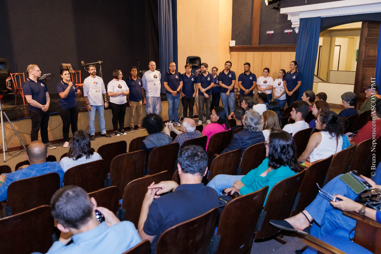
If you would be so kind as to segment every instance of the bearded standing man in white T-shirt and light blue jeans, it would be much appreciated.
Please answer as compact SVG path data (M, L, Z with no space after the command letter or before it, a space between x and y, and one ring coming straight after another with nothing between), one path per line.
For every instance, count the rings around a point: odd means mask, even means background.
M101 77L96 76L95 65L89 65L90 76L83 81L83 96L85 96L87 111L89 112L90 140L95 140L95 111L98 111L99 125L101 126L101 136L110 138L106 133L106 123L104 121L104 108L109 106L107 101L106 88ZM104 97L104 102L103 102Z

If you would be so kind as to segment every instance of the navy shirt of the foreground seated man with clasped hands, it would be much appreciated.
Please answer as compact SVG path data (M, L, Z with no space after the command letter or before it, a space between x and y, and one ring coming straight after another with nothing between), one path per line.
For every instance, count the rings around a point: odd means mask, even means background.
M203 183L181 184L174 192L154 199L143 226L144 233L155 235L151 253L155 253L157 240L165 230L214 207L218 207L218 194Z

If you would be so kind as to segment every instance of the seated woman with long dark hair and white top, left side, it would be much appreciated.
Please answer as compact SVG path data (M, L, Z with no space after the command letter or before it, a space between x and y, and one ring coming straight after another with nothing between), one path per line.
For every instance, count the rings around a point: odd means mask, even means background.
M90 146L90 137L84 130L77 130L70 141L67 156L59 161L64 172L80 164L101 160L99 153L94 152Z

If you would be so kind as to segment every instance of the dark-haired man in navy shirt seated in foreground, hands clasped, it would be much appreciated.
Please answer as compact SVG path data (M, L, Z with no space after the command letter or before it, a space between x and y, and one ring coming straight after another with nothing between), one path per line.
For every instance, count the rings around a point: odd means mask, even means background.
M138 232L142 240L151 242L151 254L155 253L157 240L165 230L218 207L217 192L201 182L207 174L207 165L208 156L201 146L186 146L178 156L181 184L163 181L148 186L140 212ZM171 190L173 192L159 196Z

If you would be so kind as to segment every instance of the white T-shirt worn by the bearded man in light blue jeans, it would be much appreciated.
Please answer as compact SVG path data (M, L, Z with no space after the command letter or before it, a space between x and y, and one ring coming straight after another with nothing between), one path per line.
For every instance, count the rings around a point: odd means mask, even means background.
M104 83L101 77L96 76L95 78L92 78L91 76L88 76L83 80L83 96L87 96L90 105L103 105L104 101L102 97L104 93L106 93L106 88L104 88Z

